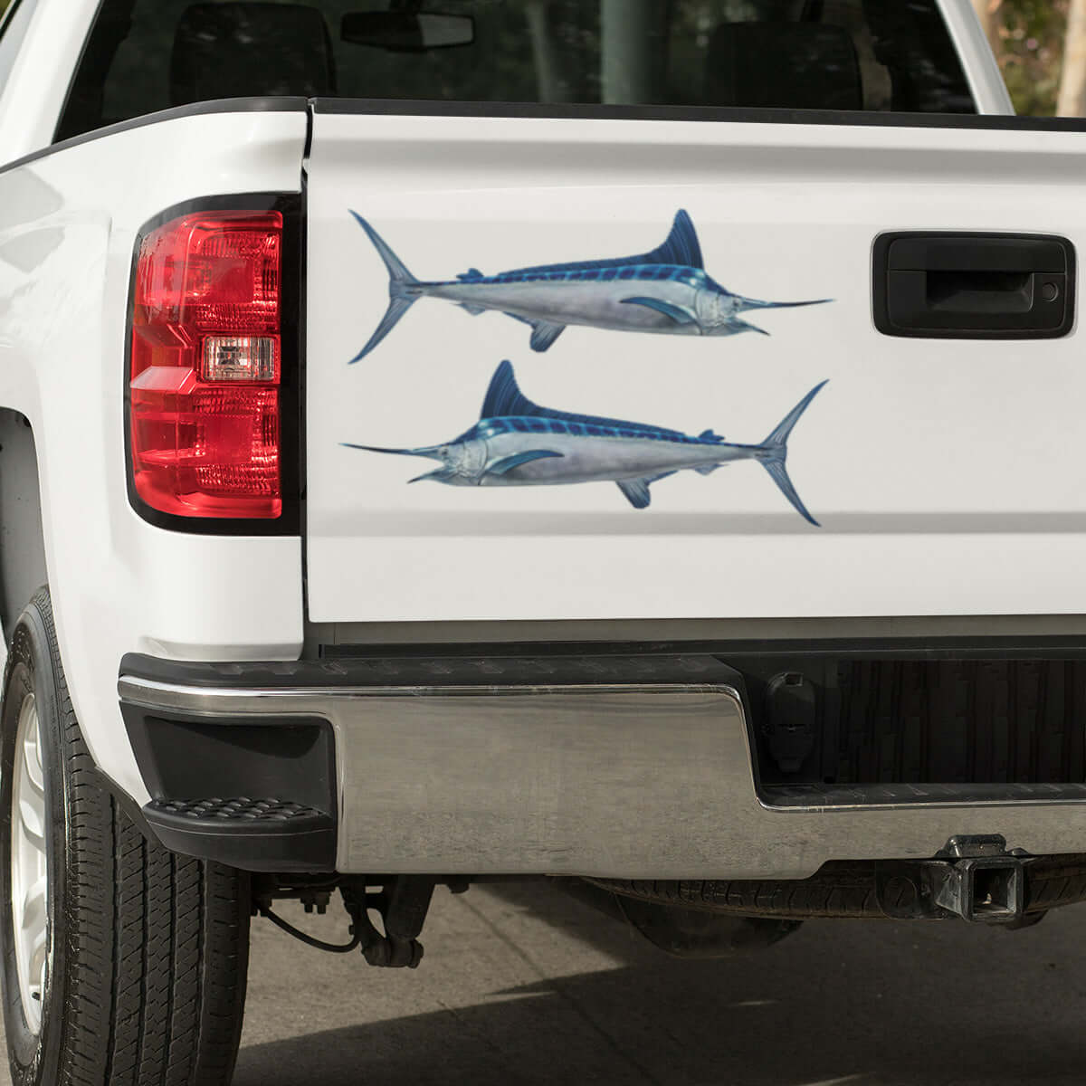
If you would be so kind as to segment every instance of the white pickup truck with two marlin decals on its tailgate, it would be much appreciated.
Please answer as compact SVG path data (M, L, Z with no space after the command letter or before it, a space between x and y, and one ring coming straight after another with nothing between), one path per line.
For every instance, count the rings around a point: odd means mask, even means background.
M281 898L1086 898L1086 128L968 0L439 7L0 24L18 1086L226 1084Z

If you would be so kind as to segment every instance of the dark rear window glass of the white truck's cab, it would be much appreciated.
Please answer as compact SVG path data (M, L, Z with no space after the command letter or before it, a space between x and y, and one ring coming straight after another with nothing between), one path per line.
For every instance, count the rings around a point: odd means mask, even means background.
M59 138L275 94L975 112L935 0L104 0Z

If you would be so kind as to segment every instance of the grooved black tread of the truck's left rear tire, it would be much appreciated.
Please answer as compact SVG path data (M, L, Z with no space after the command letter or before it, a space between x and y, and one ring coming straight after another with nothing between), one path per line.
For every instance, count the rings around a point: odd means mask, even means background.
M18 1086L228 1086L249 964L242 872L144 836L102 778L72 707L48 591L34 597L56 680L65 784L61 1065Z

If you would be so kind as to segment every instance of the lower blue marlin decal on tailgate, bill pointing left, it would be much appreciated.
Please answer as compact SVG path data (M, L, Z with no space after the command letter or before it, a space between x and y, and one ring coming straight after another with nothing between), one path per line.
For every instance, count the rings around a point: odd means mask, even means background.
M758 445L734 445L706 430L696 438L641 422L571 415L533 404L503 362L491 378L479 421L443 445L378 449L343 442L348 449L397 456L428 456L441 467L412 479L450 487L546 487L615 482L635 509L647 508L648 488L677 471L707 476L735 460L756 460L805 519L819 527L796 493L785 462L788 437L826 382L816 386Z

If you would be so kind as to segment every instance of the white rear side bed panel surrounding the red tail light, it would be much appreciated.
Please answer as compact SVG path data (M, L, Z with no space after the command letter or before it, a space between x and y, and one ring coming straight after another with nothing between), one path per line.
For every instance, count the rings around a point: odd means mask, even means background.
M0 172L0 403L25 415L36 439L76 714L97 763L140 801L117 709L121 657L296 659L303 613L296 538L166 531L129 504L123 359L132 247L148 219L181 201L296 191L305 131L304 112L180 117Z

